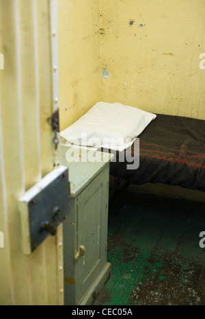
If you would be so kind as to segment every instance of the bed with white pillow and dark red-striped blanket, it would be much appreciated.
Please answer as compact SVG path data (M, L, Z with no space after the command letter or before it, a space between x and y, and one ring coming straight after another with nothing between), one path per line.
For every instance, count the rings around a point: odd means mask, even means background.
M97 102L60 135L71 145L113 153L110 174L115 178L205 191L205 120ZM131 165L131 156L139 165Z

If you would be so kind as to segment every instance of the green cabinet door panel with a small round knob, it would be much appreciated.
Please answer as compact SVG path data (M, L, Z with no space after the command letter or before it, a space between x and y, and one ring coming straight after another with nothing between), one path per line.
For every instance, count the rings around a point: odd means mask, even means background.
M109 165L77 200L77 300L85 294L107 259Z

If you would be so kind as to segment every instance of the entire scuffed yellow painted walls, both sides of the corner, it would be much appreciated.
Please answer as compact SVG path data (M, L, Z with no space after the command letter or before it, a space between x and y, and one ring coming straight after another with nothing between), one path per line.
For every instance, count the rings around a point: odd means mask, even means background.
M58 3L60 130L97 101L205 119L204 0Z

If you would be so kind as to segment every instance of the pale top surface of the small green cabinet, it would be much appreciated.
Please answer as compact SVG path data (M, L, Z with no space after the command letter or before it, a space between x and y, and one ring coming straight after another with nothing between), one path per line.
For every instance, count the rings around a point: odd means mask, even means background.
M60 145L61 165L69 171L70 194L76 196L108 165L113 154Z

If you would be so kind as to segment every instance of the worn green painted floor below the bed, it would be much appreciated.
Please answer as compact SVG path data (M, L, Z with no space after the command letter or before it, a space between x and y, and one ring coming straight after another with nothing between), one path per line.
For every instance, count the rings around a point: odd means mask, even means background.
M205 203L131 192L116 199L111 275L94 305L205 305Z

